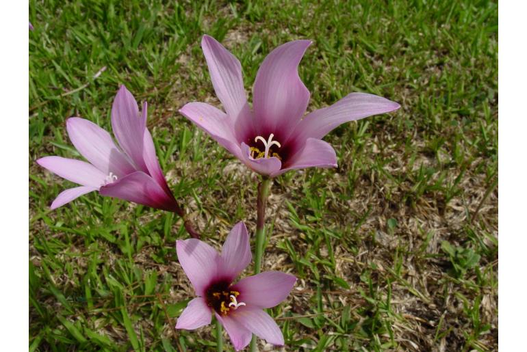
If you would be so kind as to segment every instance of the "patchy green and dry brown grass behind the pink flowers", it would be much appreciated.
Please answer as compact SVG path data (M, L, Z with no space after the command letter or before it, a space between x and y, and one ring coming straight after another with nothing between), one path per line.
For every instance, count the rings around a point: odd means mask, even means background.
M97 194L50 211L70 184L35 163L78 156L69 116L109 129L125 83L148 100L170 187L205 239L219 247L241 219L254 232L255 174L177 113L218 105L204 33L240 58L248 91L275 46L309 38L309 110L353 91L402 105L326 137L336 170L273 182L263 269L299 279L270 310L285 349L498 348L495 1L49 0L29 17L30 351L215 348L212 326L174 329L193 294L181 220Z

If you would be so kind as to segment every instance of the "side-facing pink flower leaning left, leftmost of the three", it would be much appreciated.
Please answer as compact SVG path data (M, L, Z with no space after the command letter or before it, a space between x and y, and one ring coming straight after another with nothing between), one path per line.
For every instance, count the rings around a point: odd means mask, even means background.
M155 155L155 147L146 128L146 103L142 113L133 95L121 85L112 106L110 133L83 118L68 118L66 128L71 142L86 161L63 157L44 157L37 163L80 187L62 191L51 204L55 209L80 195L99 191L138 204L175 211L180 208L168 189ZM182 212L181 212L182 213Z

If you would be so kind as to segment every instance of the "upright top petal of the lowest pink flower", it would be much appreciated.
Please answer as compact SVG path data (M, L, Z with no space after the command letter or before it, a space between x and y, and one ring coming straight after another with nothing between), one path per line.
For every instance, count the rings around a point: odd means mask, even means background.
M232 281L249 265L252 258L247 228L240 221L223 243L220 272Z

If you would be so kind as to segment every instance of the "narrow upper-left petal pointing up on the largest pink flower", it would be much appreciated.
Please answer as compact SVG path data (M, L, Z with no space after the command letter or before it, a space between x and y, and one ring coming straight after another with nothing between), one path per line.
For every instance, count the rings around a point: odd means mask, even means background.
M232 121L235 121L235 117L247 105L242 66L234 55L210 36L203 36L201 47L209 66L216 96L222 102L227 114L234 118Z

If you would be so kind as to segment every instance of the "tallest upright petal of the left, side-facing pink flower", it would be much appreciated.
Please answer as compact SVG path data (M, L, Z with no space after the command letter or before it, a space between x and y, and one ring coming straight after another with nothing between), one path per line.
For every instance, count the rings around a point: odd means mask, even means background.
M143 136L146 128L146 108L139 116L136 98L121 85L112 105L112 129L119 145L138 170L147 172L143 161Z

